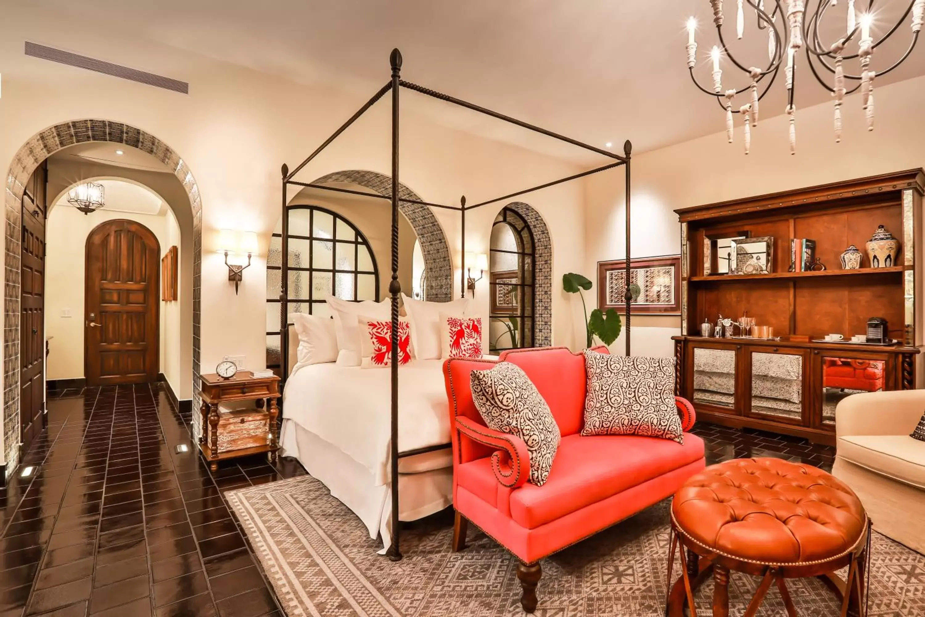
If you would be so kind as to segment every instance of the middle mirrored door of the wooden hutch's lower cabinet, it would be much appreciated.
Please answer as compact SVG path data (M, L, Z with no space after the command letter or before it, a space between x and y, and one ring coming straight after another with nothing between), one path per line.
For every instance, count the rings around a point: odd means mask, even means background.
M774 420L801 422L804 398L804 354L753 351L749 413Z

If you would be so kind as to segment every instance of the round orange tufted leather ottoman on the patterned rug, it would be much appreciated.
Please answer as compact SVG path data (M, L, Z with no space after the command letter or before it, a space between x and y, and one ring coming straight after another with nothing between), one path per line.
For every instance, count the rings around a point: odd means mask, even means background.
M730 570L762 576L746 617L772 583L796 617L784 581L803 576L820 576L842 599L843 616L862 614L870 519L854 491L811 465L735 459L691 476L674 494L671 547L668 580L676 549L682 576L669 591L670 616L683 615L685 601L693 607L697 586L712 574L713 615L726 617ZM843 581L834 573L845 566Z

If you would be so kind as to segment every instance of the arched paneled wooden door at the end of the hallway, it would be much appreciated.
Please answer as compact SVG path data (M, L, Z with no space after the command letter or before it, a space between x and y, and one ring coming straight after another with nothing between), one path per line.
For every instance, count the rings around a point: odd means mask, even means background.
M93 215L91 215L93 216ZM157 380L160 246L150 229L106 221L87 238L87 385Z

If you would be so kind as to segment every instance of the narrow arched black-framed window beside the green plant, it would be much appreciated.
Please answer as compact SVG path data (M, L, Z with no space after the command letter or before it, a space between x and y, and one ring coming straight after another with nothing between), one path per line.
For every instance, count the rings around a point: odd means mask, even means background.
M523 216L503 208L489 247L489 350L533 347L536 309L534 239Z

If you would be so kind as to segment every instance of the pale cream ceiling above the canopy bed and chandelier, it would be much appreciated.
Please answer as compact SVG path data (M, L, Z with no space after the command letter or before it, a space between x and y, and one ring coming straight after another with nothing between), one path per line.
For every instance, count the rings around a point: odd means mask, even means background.
M808 0L808 5L818 1ZM73 9L73 0L32 4ZM846 4L843 0L831 9L837 27L829 32L841 30ZM866 6L865 0L857 0L857 6ZM877 6L882 8L876 13L875 36L892 25L908 2L882 0ZM725 9L730 42L735 2L727 0ZM724 127L721 108L697 91L685 62L685 20L696 15L701 24L697 75L711 86L706 65L715 31L709 0L80 0L80 11L96 36L131 24L138 37L291 80L333 83L363 94L358 100L388 80L388 52L397 46L406 80L594 145L613 142L618 152L625 139L634 142L638 153ZM902 26L877 49L873 68L885 68L901 56L910 36L908 26ZM745 40L731 43L746 66L767 59L766 34L757 31L754 19L747 19ZM117 50L112 56L118 56ZM805 63L801 59L797 65L797 109L830 100ZM726 87L747 84L728 60L723 65ZM857 72L857 66L848 70ZM877 83L922 74L925 51L919 49ZM783 113L783 71L762 103L762 117ZM845 113L861 113L859 102L848 105ZM426 110L450 126L545 148L523 130L506 130L490 118L461 115L438 102Z

